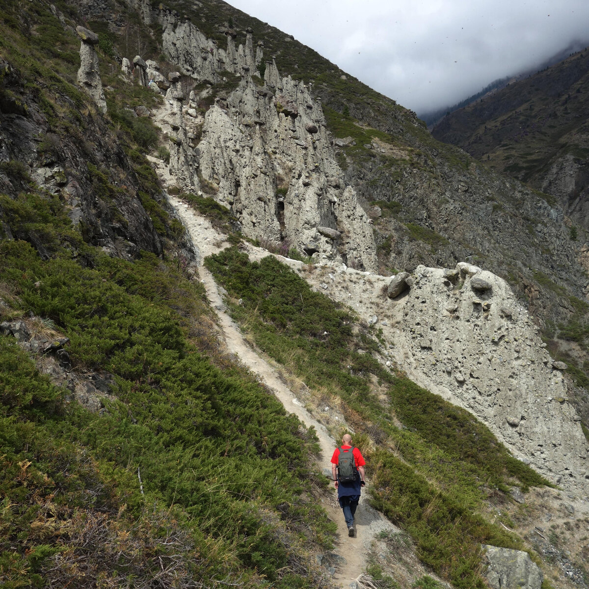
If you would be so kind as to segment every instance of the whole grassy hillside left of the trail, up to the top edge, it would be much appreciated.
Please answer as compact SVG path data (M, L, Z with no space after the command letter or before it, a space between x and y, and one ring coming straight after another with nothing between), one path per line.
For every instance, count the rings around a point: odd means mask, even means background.
M183 232L145 160L157 133L123 109L153 95L113 77L103 124L72 84L79 42L44 4L4 6L0 38L3 126L34 121L35 160L84 183L103 220L124 227L124 207L139 214L143 203L165 245L160 257L105 254L72 226L64 193L29 176L18 151L28 138L8 139L0 320L70 343L64 368L0 336L0 583L327 586L312 564L333 533L314 497L325 487L309 466L315 436L217 351L202 289L186 276ZM74 388L97 379L108 391L92 412Z

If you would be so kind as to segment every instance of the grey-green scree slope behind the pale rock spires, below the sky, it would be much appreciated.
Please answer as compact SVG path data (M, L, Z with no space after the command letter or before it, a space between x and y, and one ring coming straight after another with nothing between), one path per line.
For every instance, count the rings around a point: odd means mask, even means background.
M175 6L178 16L191 14L188 4ZM226 47L228 30L245 47L249 27L280 75L305 80L322 99L327 130L340 139L334 147L343 180L375 222L381 272L466 260L507 279L540 320L571 319L573 307L555 304L554 289L546 286L554 283L582 299L587 281L568 221L550 196L497 177L486 164L434 141L415 113L224 2L201 2L193 19L199 18L198 28L219 48Z

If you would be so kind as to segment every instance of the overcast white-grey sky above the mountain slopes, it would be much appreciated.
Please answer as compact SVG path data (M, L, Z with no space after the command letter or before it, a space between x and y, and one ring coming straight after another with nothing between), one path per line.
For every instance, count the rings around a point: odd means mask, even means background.
M229 0L418 114L589 44L589 0Z

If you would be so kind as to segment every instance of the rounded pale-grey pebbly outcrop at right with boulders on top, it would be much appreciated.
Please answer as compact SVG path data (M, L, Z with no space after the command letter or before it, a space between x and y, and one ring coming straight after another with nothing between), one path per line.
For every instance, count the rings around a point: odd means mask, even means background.
M471 264L456 270L418 266L408 294L389 303L402 368L552 482L586 489L589 444L561 366L504 280Z

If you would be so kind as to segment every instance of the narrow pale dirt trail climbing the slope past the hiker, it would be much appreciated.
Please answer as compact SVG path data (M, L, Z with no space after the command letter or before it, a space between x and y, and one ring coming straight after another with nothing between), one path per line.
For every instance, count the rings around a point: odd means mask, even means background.
M168 197L168 200L183 221L194 247L198 250L198 273L206 289L211 307L217 313L219 326L223 331L227 348L239 356L241 362L258 375L264 384L274 392L286 411L294 413L307 427L313 426L315 428L321 448L319 466L320 468L329 468L333 450L339 442L336 442L327 432L325 426L317 422L301 405L296 395L279 378L276 370L244 340L239 327L224 310L223 299L213 276L209 270L202 266L204 257L220 252L224 247L227 247L228 244L223 243L224 236L217 233L209 221L200 217L180 199ZM259 252L257 253L259 254ZM342 510L337 504L335 489L333 489L332 501L330 501L326 509L330 519L337 524L335 552L345 559L345 563L340 561L340 564L337 565L333 579L340 587L362 587L359 579L366 570L368 552L373 538L380 531L393 531L396 528L379 512L370 507L365 498L362 498L356 512L356 535L350 538L348 537L348 528L343 519Z

